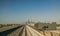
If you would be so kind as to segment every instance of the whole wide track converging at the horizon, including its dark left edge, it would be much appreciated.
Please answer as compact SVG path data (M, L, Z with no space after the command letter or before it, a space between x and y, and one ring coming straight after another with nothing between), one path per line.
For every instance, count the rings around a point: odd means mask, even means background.
M4 35L3 35L4 34ZM44 36L28 25L18 26L0 33L1 36Z

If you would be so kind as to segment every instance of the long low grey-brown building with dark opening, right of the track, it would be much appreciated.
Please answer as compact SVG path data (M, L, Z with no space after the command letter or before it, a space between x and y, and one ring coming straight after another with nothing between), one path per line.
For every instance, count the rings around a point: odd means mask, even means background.
M36 29L40 30L56 30L57 24L55 22L53 23L36 23L35 25Z

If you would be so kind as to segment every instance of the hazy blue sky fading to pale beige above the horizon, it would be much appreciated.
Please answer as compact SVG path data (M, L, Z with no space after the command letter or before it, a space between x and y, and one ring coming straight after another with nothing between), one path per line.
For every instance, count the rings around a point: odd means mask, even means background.
M21 23L28 19L60 23L60 0L0 0L0 23Z

